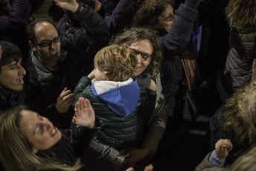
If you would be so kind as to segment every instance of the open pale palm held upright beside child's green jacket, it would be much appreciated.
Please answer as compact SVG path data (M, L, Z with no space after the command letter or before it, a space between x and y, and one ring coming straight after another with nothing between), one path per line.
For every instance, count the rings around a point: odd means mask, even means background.
M95 112L88 99L80 97L74 106L76 111L72 122L84 127L93 128L95 126Z

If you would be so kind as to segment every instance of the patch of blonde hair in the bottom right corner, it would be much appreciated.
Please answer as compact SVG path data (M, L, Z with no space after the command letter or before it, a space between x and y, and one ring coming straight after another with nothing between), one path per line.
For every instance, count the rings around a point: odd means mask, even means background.
M241 155L228 168L229 171L256 171L256 147Z

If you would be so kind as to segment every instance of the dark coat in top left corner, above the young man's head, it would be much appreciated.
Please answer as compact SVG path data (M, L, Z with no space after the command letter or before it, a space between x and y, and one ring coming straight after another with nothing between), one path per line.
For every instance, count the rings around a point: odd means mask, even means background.
M43 0L10 0L11 9L0 4L0 39L13 42L22 51L23 59L28 58L28 39L25 28L31 13L39 8Z

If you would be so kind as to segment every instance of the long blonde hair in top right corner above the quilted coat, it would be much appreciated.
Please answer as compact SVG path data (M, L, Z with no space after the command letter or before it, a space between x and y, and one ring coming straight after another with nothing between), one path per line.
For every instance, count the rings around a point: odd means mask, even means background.
M225 13L236 27L256 27L256 0L229 0Z

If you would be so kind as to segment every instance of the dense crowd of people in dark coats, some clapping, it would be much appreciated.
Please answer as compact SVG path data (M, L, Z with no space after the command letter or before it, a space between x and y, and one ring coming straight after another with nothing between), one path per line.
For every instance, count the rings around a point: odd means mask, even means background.
M223 104L196 171L256 165L256 0L225 2ZM0 170L152 171L166 129L196 119L213 4L0 0Z

